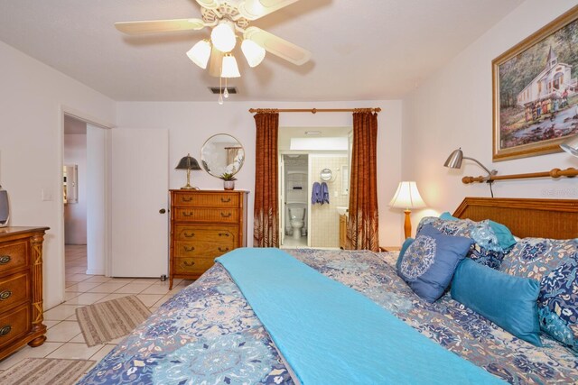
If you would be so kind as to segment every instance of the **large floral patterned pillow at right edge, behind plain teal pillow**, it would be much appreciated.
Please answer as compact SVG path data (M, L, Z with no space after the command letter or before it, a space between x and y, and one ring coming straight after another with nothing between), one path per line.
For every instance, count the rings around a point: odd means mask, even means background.
M540 281L540 328L578 352L578 238L524 238L499 270Z

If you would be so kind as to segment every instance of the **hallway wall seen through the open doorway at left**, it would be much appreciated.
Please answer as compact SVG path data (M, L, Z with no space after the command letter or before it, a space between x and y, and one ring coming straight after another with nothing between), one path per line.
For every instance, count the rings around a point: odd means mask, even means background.
M87 135L64 135L64 164L78 166L78 203L64 206L64 243L87 244Z

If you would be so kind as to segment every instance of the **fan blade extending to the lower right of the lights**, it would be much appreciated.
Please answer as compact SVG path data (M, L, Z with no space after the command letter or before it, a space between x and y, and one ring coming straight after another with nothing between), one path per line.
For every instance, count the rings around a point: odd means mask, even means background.
M245 39L255 41L261 47L265 48L279 58L301 66L311 59L311 52L303 50L294 43L281 39L273 33L263 31L257 27L248 27L244 34Z

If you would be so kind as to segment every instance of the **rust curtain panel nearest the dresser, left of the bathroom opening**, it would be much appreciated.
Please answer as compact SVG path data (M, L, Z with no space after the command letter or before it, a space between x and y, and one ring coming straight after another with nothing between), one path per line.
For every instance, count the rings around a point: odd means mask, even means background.
M279 247L277 133L279 113L258 112L256 123L254 247Z

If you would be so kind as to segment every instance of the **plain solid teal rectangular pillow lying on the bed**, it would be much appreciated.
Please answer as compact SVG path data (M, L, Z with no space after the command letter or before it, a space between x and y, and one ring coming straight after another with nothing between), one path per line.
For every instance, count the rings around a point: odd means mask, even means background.
M452 298L512 335L536 346L540 324L537 280L514 277L466 258L455 270Z

